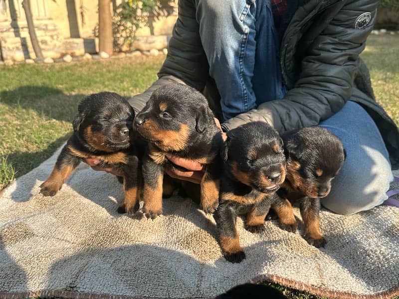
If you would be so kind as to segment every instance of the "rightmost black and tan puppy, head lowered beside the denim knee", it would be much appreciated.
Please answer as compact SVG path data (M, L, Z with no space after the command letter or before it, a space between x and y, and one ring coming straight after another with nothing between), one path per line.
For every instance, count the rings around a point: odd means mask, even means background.
M288 132L282 136L287 156L286 179L277 192L281 205L291 207L287 201L299 201L304 223L305 239L315 247L323 247L325 239L320 230L320 198L331 190L331 181L345 160L341 140L328 130L308 127ZM289 231L296 230L292 212L282 215L280 222Z

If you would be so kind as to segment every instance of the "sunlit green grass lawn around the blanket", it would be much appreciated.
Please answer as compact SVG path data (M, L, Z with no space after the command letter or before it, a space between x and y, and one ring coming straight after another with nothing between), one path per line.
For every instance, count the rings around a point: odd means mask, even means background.
M375 95L399 124L399 35L372 35L362 58ZM0 66L0 190L47 159L71 134L77 103L103 90L131 97L156 78L165 56ZM289 298L318 297L284 290ZM397 297L399 299L399 297Z

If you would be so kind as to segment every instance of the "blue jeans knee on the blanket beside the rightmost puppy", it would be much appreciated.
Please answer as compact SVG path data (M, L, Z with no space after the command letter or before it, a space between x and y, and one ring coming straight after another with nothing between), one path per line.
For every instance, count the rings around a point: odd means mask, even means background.
M370 115L359 104L348 101L319 126L338 136L347 151L331 192L321 204L344 215L382 204L394 177L387 148Z

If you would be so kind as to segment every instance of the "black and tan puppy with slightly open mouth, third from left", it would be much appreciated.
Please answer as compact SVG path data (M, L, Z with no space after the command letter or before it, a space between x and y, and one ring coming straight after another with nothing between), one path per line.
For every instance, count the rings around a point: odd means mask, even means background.
M248 123L227 132L221 157L224 169L214 218L224 258L239 263L245 254L236 218L243 217L245 228L251 232L264 229L274 194L285 179L283 143L266 123Z

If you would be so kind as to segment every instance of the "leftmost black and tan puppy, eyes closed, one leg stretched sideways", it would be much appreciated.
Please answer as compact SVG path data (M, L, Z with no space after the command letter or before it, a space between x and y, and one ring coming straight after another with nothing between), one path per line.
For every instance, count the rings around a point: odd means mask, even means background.
M133 212L138 204L138 156L132 124L135 113L116 93L101 92L84 98L73 120L73 134L57 158L50 176L40 185L40 193L54 196L84 158L96 158L102 167L120 170L125 199L118 212Z

